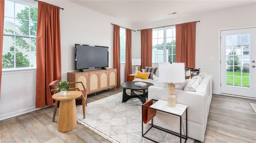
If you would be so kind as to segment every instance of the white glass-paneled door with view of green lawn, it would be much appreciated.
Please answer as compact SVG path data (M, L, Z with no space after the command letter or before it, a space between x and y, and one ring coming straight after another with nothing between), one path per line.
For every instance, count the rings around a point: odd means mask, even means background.
M221 93L256 98L256 28L221 31Z

